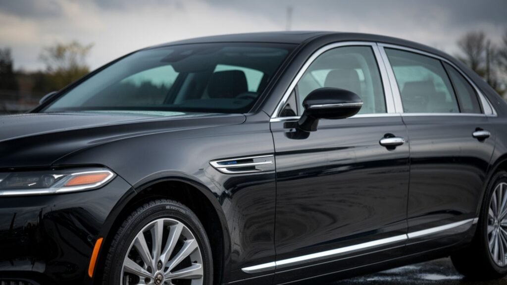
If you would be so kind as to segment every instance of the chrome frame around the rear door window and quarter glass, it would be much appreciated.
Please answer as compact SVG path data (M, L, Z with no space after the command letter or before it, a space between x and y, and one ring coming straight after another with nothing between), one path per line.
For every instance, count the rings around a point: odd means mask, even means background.
M385 48L391 48L391 49L397 49L397 50L404 50L404 51L408 51L408 52L413 52L413 53L421 54L421 55L424 55L424 56L436 58L438 60L441 60L443 62L448 63L449 65L451 65L452 67L454 67L456 70L458 70L458 72L463 76L463 78L465 78L465 80L468 82L468 84L472 85L472 87L475 89L477 95L479 96L479 101L481 102L481 105L482 105L482 110L483 110L482 115L486 115L486 116L490 116L490 117L496 117L497 116L496 110L493 108L493 105L488 100L488 98L486 98L486 96L484 96L484 94L477 87L477 85L474 83L474 81L471 80L458 66L456 66L454 63L452 63L448 59L446 59L444 57L441 57L439 55L436 55L436 54L424 52L424 51L413 49L413 48L407 48L407 47L404 47L404 46L398 46L398 45L392 45L392 44L383 44L383 43L378 43L378 46L379 46L379 49L380 49L380 53L382 54L382 58L385 61L385 65L386 65L386 67L388 69L389 81L391 82L392 95L395 98L394 101L395 101L395 104L396 104L396 112L397 113L404 113L403 112L402 97L400 95L400 90L399 90L398 85L396 83L396 78L394 76L394 72L392 70L392 66L391 66L391 64L389 62L389 59L387 57L387 54L385 52ZM401 108L401 110L399 110L399 108ZM409 113L405 113L405 114L409 114ZM426 113L424 113L424 114L426 114ZM450 113L450 114L454 114L454 113ZM459 113L459 114L465 114L465 115L467 115L467 114L473 114L473 113Z

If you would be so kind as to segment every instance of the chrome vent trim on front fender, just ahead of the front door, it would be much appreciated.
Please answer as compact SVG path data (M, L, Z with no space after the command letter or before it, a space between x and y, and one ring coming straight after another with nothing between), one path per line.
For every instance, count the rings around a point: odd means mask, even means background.
M275 170L274 155L212 160L209 164L216 170L225 174L255 173Z

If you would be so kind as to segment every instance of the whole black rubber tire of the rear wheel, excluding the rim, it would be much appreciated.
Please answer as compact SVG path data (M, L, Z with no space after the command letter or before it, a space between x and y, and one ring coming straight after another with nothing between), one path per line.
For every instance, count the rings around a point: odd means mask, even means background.
M489 205L494 190L500 183L507 183L507 172L503 170L496 172L488 185L472 244L451 256L456 270L472 279L490 280L507 275L507 265L498 266L491 257L487 233Z

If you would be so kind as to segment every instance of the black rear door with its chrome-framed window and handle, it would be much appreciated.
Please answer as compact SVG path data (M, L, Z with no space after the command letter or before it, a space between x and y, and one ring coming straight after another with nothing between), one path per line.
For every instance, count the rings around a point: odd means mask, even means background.
M381 52L410 141L407 254L458 242L477 222L486 185L489 105L444 59L399 47Z

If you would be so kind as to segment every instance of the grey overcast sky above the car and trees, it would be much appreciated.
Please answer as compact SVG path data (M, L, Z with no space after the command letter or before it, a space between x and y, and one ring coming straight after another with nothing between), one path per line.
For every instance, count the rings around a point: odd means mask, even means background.
M507 0L0 0L0 48L15 68L43 68L41 48L93 43L92 69L146 46L210 34L336 30L391 35L457 52L456 41L484 30L499 42Z

